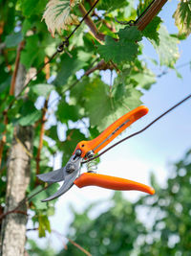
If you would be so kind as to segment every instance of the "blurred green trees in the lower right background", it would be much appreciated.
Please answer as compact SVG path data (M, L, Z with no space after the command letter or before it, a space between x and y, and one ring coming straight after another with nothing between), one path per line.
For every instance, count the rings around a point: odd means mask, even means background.
M90 213L100 202L83 213L74 211L67 237L94 256L189 256L191 151L171 167L164 188L159 186L153 174L151 183L156 189L154 196L131 203L116 192L110 201L112 206L96 219L92 220ZM74 244L68 243L67 247L55 255L84 255Z

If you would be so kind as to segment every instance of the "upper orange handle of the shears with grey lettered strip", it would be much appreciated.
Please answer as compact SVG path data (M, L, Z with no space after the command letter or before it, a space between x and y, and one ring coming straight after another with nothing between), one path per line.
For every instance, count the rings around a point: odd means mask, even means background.
M117 119L115 123L113 123L109 128L106 128L94 140L79 142L74 152L76 150L81 150L81 156L84 157L88 151L94 151L95 153L100 151L114 140L125 128L128 128L139 118L146 115L148 110L149 109L144 105L138 106L134 110Z

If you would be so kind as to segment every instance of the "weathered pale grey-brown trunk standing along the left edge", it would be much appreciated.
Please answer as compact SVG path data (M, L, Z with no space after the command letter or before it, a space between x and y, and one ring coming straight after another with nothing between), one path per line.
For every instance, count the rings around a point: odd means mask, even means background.
M19 94L25 81L26 69L19 64L15 96ZM15 127L8 160L5 212L14 209L26 197L26 189L30 183L30 153L32 153L32 127ZM17 210L17 213L7 215L2 223L1 255L3 256L25 255L27 204L23 203Z

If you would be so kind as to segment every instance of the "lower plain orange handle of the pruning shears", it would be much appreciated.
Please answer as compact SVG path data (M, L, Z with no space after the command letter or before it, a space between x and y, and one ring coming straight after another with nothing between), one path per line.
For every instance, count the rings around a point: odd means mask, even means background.
M138 190L151 195L155 194L155 190L152 187L136 181L109 175L97 175L93 173L84 173L80 175L74 180L74 184L79 188L86 186L98 186L113 190Z

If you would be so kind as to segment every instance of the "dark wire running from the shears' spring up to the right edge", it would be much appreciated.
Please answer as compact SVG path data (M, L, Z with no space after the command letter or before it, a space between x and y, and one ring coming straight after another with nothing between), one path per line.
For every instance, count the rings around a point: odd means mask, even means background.
M143 132L144 130L146 130L147 128L150 128L152 125L154 125L160 118L162 118L164 115L168 114L169 112L171 112L173 109L175 109L177 106L181 105L182 103L184 103L185 101L187 101L188 99L191 98L191 94L188 95L186 98L184 98L183 100L181 100L178 104L173 105L171 108L169 108L168 110L166 110L164 113L162 113L161 115L159 115L158 118L154 119L148 126L146 126L145 128L142 128L140 130L138 130L135 133L132 133L131 135L125 137L122 140L119 140L117 143L115 143L114 145L112 145L111 147L109 147L108 149L106 149L105 151L100 152L99 154L97 154L95 157L92 157L86 161L83 161L82 164L88 163L92 160L95 160L96 158L98 158L99 156L101 156L102 154L104 154L107 151L112 150L113 148L115 148L118 144L122 143L125 140L128 140L136 135L138 135L139 133Z

